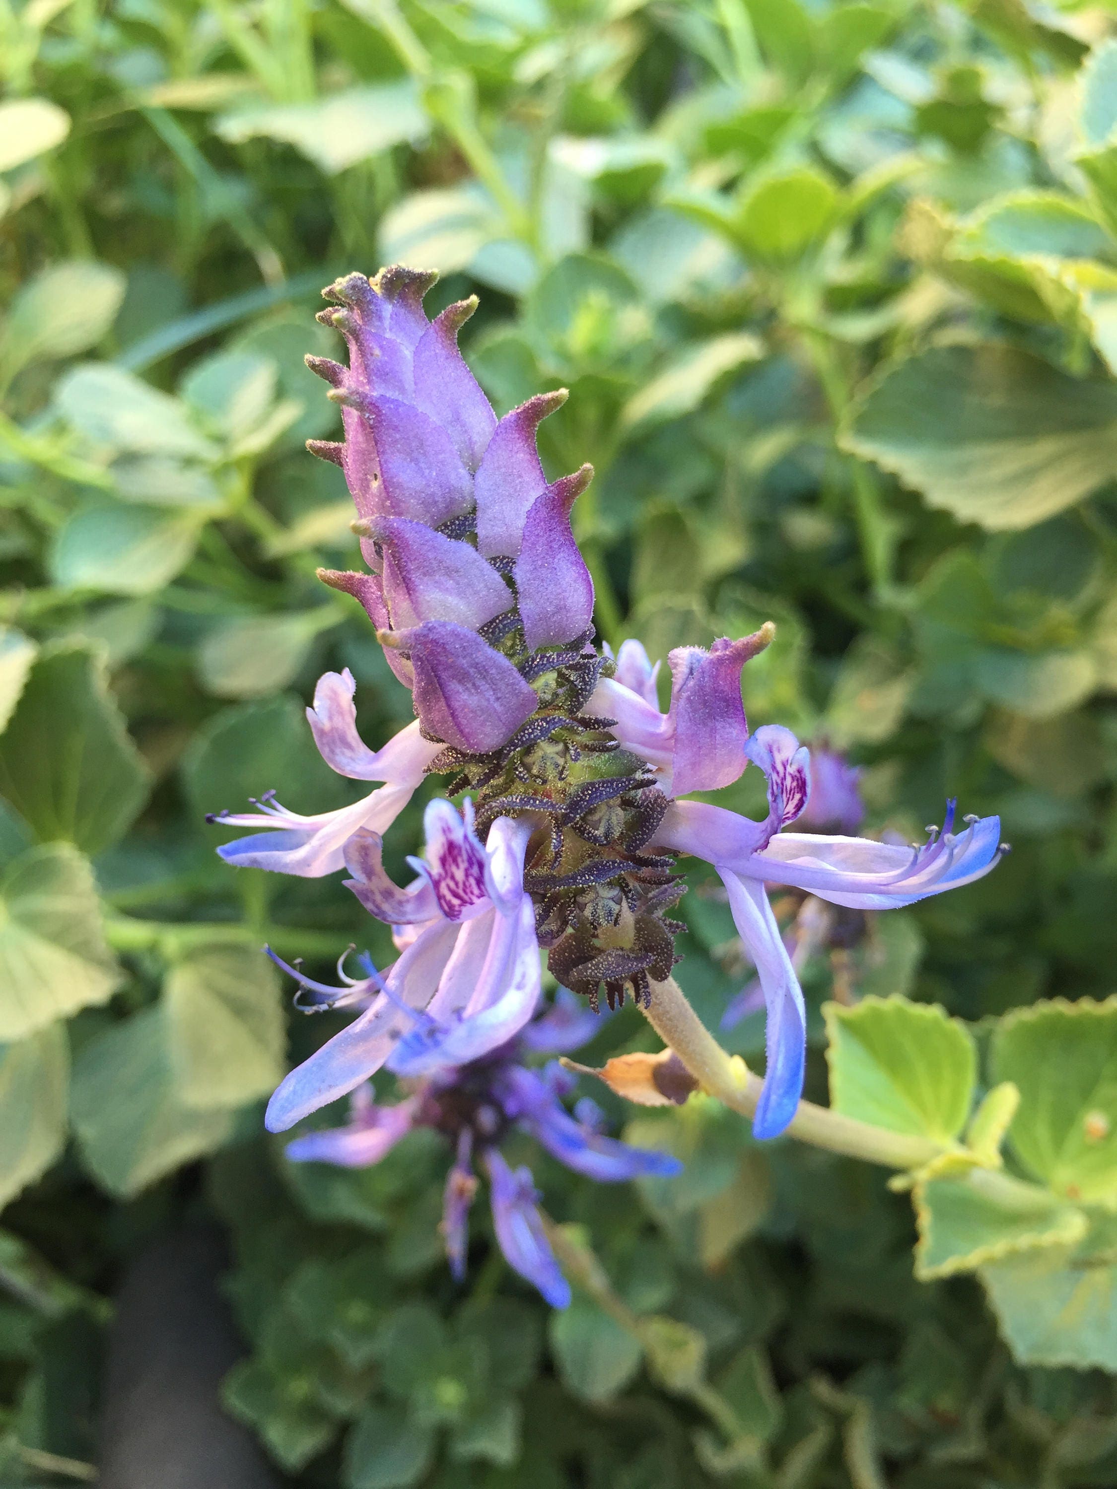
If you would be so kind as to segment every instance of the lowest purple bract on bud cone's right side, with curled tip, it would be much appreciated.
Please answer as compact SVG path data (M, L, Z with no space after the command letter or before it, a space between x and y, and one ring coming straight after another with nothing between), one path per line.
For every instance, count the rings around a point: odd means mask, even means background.
M515 588L527 648L581 636L593 619L593 579L570 529L570 509L593 481L593 466L548 485L524 521Z

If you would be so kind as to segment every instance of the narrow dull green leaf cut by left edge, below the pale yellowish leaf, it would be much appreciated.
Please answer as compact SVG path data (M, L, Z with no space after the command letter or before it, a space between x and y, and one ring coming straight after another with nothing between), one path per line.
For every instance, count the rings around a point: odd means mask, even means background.
M70 1050L55 1023L0 1045L0 1205L33 1184L66 1145Z

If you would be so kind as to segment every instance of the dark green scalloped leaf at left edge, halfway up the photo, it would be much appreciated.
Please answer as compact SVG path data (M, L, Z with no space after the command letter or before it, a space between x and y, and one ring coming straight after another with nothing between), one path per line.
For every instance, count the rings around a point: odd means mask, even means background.
M82 646L43 654L0 736L0 794L40 841L97 853L128 831L149 789L97 660Z

